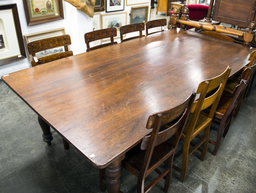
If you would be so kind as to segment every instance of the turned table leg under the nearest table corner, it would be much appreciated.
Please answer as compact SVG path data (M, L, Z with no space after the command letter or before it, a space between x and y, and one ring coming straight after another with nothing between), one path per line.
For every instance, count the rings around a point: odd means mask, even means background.
M125 154L106 167L106 187L108 193L119 193L121 187L121 163Z

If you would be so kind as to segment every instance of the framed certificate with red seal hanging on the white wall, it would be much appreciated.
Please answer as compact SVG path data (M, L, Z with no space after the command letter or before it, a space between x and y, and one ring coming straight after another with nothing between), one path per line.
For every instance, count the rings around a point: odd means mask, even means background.
M23 0L28 26L64 19L62 0Z

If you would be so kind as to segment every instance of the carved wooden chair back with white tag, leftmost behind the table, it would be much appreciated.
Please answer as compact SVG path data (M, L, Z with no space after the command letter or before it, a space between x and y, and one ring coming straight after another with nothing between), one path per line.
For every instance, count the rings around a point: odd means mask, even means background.
M34 42L29 42L28 43L28 53L31 54L32 57L34 58L34 60L31 61L31 66L37 66L40 64L58 60L60 58L66 58L69 56L73 56L73 52L68 51L68 45L70 45L70 44L71 44L71 40L70 40L69 35L60 35L60 36L56 36L56 37L37 40ZM64 46L64 49L65 49L64 52L52 54L52 55L45 56L42 58L35 58L36 53L38 53L38 52L41 52L44 50L49 50L52 48L58 48L61 46ZM37 59L38 59L38 62L36 62Z

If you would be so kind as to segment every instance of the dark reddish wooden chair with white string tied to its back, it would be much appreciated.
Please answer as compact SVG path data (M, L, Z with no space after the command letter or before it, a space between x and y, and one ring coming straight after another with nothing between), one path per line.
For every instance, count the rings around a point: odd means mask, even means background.
M213 120L214 122L220 124L217 139L216 141L209 140L209 143L215 145L214 150L212 152L212 155L214 156L216 155L220 147L221 137L225 137L228 132L235 106L239 102L240 97L244 93L244 89L248 83L251 71L252 67L246 68L242 75L242 80L240 84L236 86L236 89L234 90L232 97L222 95L220 98L220 102L214 114L215 119ZM209 111L210 109L206 109L206 112Z

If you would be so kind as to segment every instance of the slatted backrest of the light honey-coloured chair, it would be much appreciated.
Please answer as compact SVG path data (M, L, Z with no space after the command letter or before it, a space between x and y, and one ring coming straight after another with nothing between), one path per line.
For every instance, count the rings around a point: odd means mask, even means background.
M198 100L194 102L191 109L191 113L193 113L193 116L188 128L188 133L192 133L194 131L200 111L208 108L211 105L212 107L208 114L208 118L213 118L213 115L220 100L220 96L222 95L224 87L228 81L230 71L231 69L227 67L227 69L219 76L200 82L196 91L196 94L200 94L200 96ZM213 92L213 94L211 91ZM206 97L206 94L209 92L210 94Z

